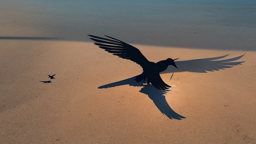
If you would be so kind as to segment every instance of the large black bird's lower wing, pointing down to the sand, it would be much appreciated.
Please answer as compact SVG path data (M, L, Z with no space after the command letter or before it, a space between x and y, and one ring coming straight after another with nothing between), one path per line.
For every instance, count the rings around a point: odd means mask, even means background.
M158 71L151 71L150 75L147 78L148 83L151 83L158 90L167 90L171 86L167 85L161 78Z

